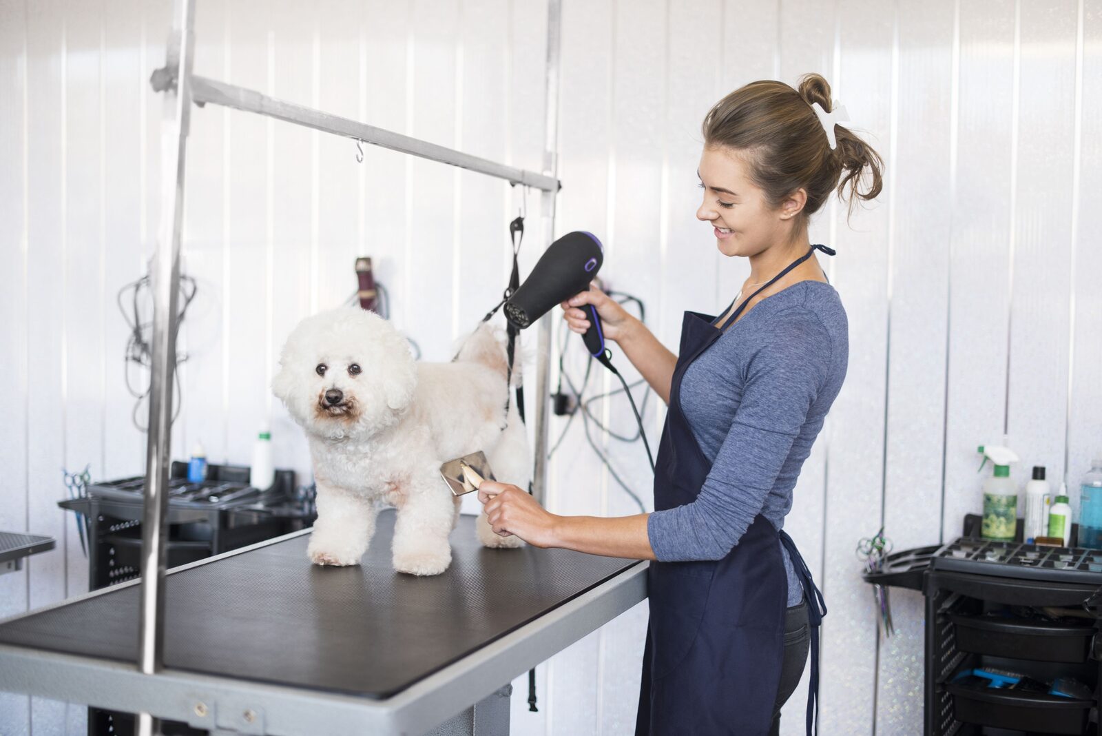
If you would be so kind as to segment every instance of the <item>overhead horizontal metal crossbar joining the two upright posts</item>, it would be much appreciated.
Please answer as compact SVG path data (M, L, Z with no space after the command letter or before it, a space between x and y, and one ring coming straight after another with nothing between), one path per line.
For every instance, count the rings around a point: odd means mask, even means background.
M554 176L537 174L523 169L506 166L505 164L479 159L468 153L462 153L443 145L395 133L382 128L376 128L364 122L342 118L337 115L322 112L313 108L287 102L261 95L252 89L228 85L224 82L192 76L192 99L196 105L210 102L231 107L235 110L267 115L277 120L293 122L326 133L344 136L353 140L364 141L392 151L410 153L422 159L439 161L460 169L476 171L497 178L504 178L510 184L522 184L544 192L558 192L560 184Z

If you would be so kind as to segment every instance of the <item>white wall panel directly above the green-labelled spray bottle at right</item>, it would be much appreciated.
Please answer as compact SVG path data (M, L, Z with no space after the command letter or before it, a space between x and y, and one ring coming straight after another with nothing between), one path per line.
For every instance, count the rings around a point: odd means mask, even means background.
M965 513L983 510L975 448L998 442L1005 421L1014 37L1013 0L982 9L961 4L949 264L944 540L961 534Z

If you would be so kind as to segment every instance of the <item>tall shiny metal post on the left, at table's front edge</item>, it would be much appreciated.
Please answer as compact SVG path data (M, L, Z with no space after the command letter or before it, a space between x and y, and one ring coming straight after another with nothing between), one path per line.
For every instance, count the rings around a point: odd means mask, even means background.
M138 669L156 674L163 663L164 538L169 507L172 440L172 381L176 362L176 294L180 291L180 231L184 217L184 162L191 120L195 0L175 0L165 66L161 131L161 227L153 263L153 339L145 450L145 506L142 518L141 613ZM156 74L154 75L156 76ZM174 83L174 84L173 84ZM138 716L140 736L160 732L148 713Z

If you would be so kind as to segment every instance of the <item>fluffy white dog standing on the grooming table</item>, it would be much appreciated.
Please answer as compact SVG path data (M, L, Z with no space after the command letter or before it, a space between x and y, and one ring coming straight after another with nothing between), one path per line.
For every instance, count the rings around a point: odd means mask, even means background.
M506 423L506 371L505 347L488 325L442 364L415 361L389 322L358 306L299 323L272 389L310 441L317 484L310 559L358 564L381 502L398 509L395 570L447 570L460 499L441 478L441 464L480 450L499 478L525 483L530 470L516 401ZM495 534L485 515L475 526L486 546L520 544Z

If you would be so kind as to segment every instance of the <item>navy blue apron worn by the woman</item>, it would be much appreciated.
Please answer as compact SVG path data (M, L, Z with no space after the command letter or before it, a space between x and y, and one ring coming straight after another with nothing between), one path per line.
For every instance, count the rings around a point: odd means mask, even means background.
M679 393L685 370L758 293L806 261L813 246L758 289L720 327L714 317L685 312L670 386L669 411L655 467L655 510L692 502L712 464L693 437ZM778 543L779 535L779 543ZM784 544L803 586L811 627L808 734L819 691L822 594L791 538L758 515L738 544L719 561L651 562L647 573L650 625L642 656L636 736L765 736L780 683L788 577Z

